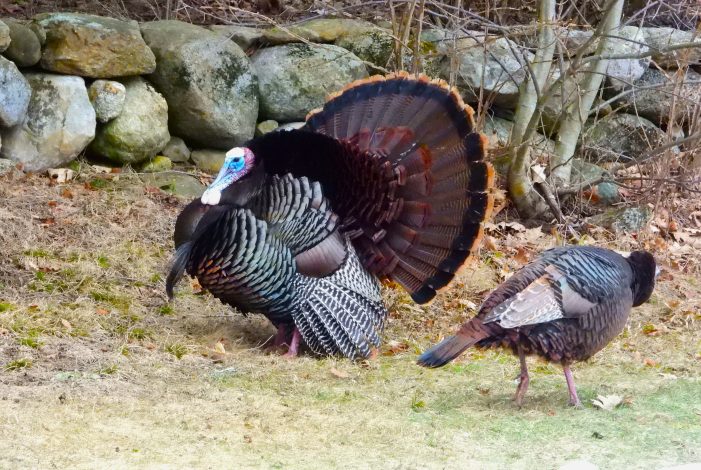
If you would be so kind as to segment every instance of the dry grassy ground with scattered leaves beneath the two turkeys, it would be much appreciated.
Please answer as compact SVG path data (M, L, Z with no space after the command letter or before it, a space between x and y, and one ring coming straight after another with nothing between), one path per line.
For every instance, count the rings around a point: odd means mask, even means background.
M558 366L531 358L519 409L510 354L469 351L438 370L414 362L554 244L552 234L492 226L454 289L427 307L387 287L391 318L375 359L287 360L265 351L274 331L263 319L191 280L167 303L170 234L183 204L129 172L84 166L67 184L0 177L0 467L701 462L701 287L689 257L680 261L664 242L655 245L663 273L651 301L573 367L584 407L567 406ZM635 242L597 236L621 249ZM603 410L592 404L599 395L622 402Z

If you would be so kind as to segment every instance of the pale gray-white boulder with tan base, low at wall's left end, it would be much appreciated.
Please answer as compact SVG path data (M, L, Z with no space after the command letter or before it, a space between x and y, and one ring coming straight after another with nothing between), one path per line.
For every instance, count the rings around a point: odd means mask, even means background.
M95 136L95 111L81 77L31 73L24 121L4 129L0 154L42 171L73 160Z

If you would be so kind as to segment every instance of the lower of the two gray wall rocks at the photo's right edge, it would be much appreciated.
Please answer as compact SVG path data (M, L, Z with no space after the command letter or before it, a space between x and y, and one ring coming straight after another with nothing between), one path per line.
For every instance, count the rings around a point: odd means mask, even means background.
M677 85L677 79L676 71L649 68L632 86L625 87L633 91L614 105L660 125L667 124L672 111L675 121L688 122L701 101L701 74L689 69L682 78L684 84ZM608 98L617 95L615 90L606 90Z

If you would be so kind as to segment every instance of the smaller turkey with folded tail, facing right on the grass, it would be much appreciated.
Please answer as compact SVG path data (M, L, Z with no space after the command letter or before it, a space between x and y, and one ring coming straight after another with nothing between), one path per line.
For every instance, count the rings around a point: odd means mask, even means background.
M547 250L418 362L440 367L473 345L511 348L521 362L515 396L521 406L529 381L526 355L537 354L562 364L570 404L579 406L570 364L590 358L623 330L631 308L650 298L656 276L655 259L646 251L622 256L596 247Z

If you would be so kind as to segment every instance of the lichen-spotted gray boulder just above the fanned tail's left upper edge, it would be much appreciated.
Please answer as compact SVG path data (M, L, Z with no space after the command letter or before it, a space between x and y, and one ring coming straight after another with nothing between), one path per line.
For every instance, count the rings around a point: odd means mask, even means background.
M300 121L326 96L368 76L355 54L334 45L288 44L259 50L261 115L277 121Z

